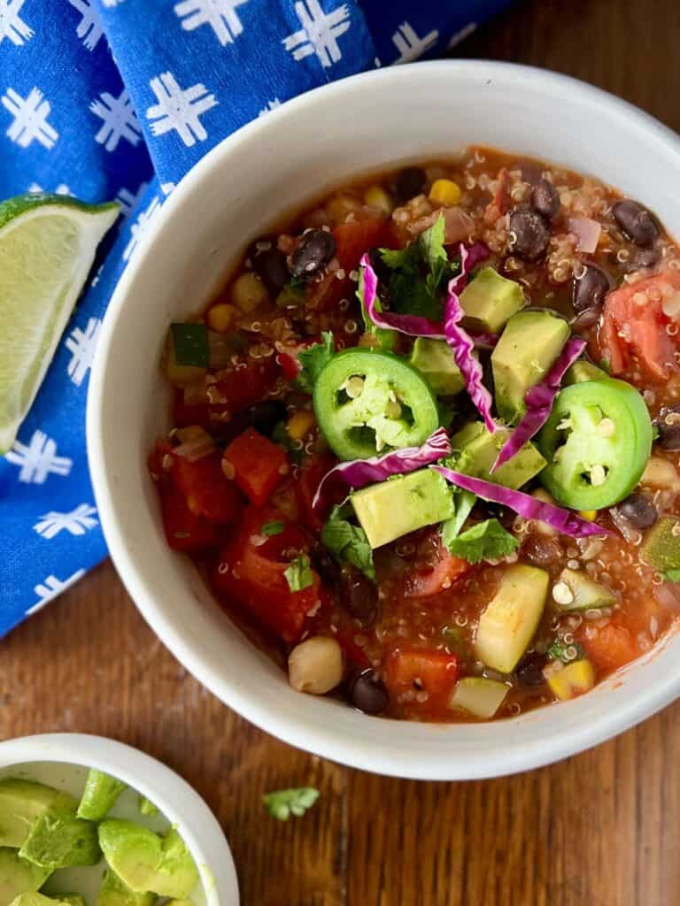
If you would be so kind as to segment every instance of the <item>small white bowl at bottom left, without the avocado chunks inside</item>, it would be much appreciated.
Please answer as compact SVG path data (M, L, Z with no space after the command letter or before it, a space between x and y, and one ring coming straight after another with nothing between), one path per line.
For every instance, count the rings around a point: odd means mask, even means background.
M118 777L125 790L112 815L130 818L160 832L177 827L194 858L200 882L191 894L196 906L238 906L238 882L227 840L215 816L186 781L139 749L105 737L80 733L54 733L0 742L0 777L22 776L80 796L88 768L96 767ZM142 817L137 794L145 795L160 809ZM58 872L45 887L49 893L82 892L90 903L96 899L103 863L93 868ZM50 885L58 881L57 887Z

